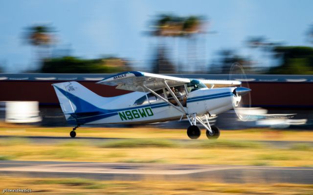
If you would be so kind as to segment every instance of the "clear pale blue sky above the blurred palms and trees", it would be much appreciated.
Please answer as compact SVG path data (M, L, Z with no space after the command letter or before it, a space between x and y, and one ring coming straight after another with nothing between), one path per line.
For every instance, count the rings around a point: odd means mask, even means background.
M70 47L71 55L82 58L114 55L140 69L151 62L157 41L145 32L162 13L208 19L206 31L217 32L203 35L201 55L208 65L221 49L249 54L248 36L310 45L306 32L313 24L312 8L312 0L0 0L0 65L12 73L36 68L36 50L23 41L23 32L49 24L57 49Z

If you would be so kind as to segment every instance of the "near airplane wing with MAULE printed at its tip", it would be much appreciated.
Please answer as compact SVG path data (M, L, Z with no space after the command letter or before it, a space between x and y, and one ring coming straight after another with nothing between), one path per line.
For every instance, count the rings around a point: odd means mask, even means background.
M166 81L169 87L190 83L190 79L186 78L165 76L139 71L129 71L105 78L97 82L97 84L117 86L117 89L146 92L143 85L155 91L164 87L164 81Z

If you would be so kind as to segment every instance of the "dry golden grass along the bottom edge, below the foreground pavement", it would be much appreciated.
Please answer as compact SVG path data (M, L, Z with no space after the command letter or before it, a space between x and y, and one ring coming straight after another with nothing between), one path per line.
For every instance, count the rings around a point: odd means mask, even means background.
M3 189L32 189L38 195L312 195L313 185L203 181L98 181L85 178L29 178L0 175ZM2 192L1 192L2 193ZM9 193L5 193L9 194Z

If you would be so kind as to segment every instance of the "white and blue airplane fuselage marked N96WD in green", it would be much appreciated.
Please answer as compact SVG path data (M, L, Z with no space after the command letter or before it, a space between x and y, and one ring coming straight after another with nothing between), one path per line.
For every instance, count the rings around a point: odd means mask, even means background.
M184 109L188 114L219 114L233 108L236 101L235 87L201 88L186 94ZM185 114L163 100L135 105L134 101L146 93L133 92L113 97L103 105L98 102L99 111L85 114L65 114L68 122L80 124L142 124L179 120ZM239 100L240 101L240 100ZM179 106L177 106L179 107Z

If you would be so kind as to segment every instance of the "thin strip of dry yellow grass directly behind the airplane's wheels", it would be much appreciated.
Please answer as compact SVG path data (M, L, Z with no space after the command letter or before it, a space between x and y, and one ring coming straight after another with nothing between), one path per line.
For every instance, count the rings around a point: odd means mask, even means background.
M69 136L70 127L44 128L34 126L17 126L0 124L0 135L13 136ZM201 140L207 140L202 130ZM157 129L151 126L136 128L88 128L77 129L79 137L106 137L106 138L140 138L140 139L188 139L186 130ZM277 141L312 141L313 133L310 130L271 130L255 128L248 130L222 130L224 140L277 140Z

